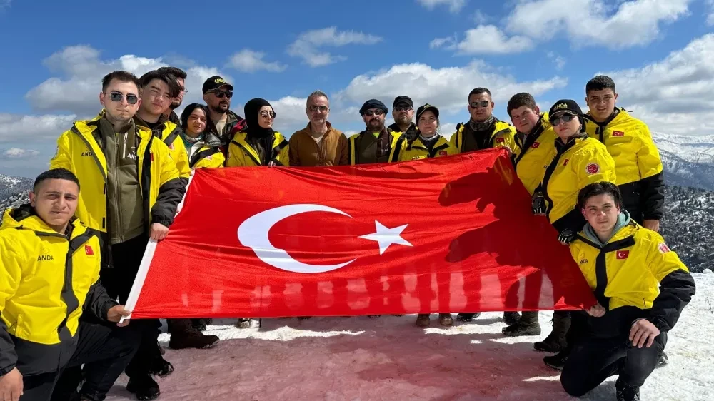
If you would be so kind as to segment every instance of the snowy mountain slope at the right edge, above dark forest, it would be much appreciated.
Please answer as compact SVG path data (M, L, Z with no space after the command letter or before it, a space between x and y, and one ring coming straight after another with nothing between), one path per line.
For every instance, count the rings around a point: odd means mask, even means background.
M652 133L660 151L665 182L714 191L714 136Z

